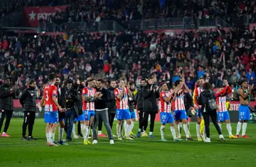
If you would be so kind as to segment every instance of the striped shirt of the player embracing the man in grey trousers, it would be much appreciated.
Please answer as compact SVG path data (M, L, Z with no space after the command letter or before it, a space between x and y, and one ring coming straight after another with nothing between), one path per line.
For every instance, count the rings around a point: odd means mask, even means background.
M93 96L95 92L97 92L95 88L85 87L82 89L82 96ZM82 100L82 111L95 111L95 103Z

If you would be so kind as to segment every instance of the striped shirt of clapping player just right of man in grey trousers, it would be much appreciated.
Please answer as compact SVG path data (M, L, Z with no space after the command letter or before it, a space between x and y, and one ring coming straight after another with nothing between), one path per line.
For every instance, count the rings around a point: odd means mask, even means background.
M125 87L124 90L124 95L121 99L117 98L117 95L119 95L122 92L122 89L117 87L114 89L114 96L116 98L117 101L117 109L129 109L128 106L128 92L129 90L127 89L127 87Z

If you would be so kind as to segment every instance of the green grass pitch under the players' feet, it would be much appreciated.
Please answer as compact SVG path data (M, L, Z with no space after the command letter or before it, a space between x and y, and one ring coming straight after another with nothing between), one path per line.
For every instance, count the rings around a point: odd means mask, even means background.
M211 143L181 141L174 143L169 126L166 139L160 141L159 122L156 122L156 139L142 137L134 141L117 141L110 145L108 139L99 138L97 145L82 144L75 139L69 146L48 147L43 119L36 119L33 136L37 141L21 141L23 119L12 119L8 134L0 137L0 166L256 166L256 124L248 124L251 139L228 139L223 124L226 143L220 142L214 126L210 126ZM191 135L196 139L196 125L191 123ZM236 124L232 124L235 134ZM134 126L137 132L138 124ZM103 132L106 134L105 127ZM115 126L114 126L115 134ZM184 133L182 131L182 135ZM55 134L58 138L58 134Z

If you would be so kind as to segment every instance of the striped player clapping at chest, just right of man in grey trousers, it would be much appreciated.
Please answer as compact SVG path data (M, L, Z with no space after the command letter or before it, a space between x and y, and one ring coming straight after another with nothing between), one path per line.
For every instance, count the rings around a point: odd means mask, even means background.
M121 79L118 83L119 87L114 89L114 96L117 102L117 137L122 140L121 121L124 119L127 122L127 128L125 134L130 134L132 131L132 119L129 112L128 96L132 97L132 92L129 87L125 87L125 80ZM132 136L125 136L126 139L133 140Z

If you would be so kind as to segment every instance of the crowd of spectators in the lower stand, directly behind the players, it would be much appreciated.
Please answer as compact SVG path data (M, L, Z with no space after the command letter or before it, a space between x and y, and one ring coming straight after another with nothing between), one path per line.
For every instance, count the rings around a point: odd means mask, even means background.
M154 74L157 82L186 78L188 87L206 77L213 87L226 79L233 89L240 79L255 84L255 32L248 28L166 33L70 33L67 36L4 36L0 41L1 75L12 75L17 95L35 78L39 90L47 75L68 77L126 77L139 85ZM2 78L1 76L1 78Z

